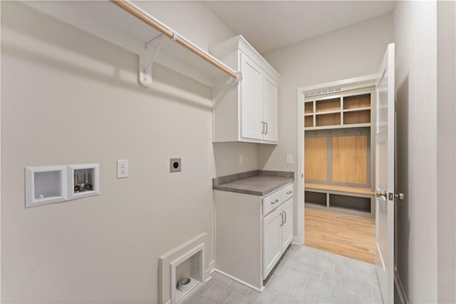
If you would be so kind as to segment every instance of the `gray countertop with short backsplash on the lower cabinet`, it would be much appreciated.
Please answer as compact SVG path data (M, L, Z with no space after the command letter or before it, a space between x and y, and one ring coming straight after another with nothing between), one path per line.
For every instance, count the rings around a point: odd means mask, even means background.
M293 181L293 172L256 170L214 178L212 188L220 191L266 196Z

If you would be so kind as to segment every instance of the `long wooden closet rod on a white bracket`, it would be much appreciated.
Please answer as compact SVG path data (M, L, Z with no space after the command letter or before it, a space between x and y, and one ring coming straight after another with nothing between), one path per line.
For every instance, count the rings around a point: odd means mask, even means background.
M166 26L161 24L159 21L153 19L152 16L148 16L144 12L140 11L140 9L138 9L135 6L133 6L132 4L128 3L128 1L125 1L125 0L110 0L110 1L113 4L119 6L120 9L123 9L124 11L128 12L129 14L132 14L133 16L135 16L137 19L144 22L148 26L151 26L152 28L156 29L157 31L160 31L162 34L164 34L168 38L173 39L181 46L184 46L185 49L188 49L192 53L201 57L205 61L209 62L209 64L212 64L213 66L215 66L217 69L224 71L226 74L228 74L229 76L232 76L233 78L238 78L238 74L235 71L233 71L232 69L229 69L228 66L224 65L220 61L217 61L217 59L214 59L212 56L209 56L204 51L199 49L197 46L194 46L189 41L180 37L178 34L175 34L175 32L168 29Z

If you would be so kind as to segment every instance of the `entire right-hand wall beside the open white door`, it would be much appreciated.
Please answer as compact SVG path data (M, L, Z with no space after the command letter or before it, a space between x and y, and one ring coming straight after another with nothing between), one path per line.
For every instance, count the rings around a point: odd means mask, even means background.
M410 303L455 303L455 4L394 13L397 266Z

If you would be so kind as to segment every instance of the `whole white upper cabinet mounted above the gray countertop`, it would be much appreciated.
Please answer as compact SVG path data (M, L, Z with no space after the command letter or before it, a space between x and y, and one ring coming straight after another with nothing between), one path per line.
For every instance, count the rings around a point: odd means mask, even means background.
M240 81L219 78L215 83L214 142L276 144L280 75L240 35L209 51L242 75Z

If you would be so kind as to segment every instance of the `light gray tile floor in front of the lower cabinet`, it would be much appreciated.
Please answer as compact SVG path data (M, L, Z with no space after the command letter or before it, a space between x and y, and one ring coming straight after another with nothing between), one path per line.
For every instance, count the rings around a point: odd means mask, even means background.
M375 266L292 245L259 293L219 273L183 303L382 303Z

